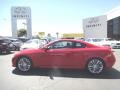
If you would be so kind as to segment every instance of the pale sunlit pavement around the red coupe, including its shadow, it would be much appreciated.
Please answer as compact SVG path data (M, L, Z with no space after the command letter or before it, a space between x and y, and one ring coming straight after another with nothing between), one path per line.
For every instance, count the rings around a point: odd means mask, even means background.
M0 55L0 90L120 90L120 49L114 49L113 69L93 76L80 70L34 69L21 73L12 67L15 52Z

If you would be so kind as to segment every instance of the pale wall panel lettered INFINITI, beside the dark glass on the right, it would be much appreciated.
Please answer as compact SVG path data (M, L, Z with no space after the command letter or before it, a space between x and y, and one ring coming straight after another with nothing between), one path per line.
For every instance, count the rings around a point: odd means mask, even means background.
M90 17L83 20L85 38L107 37L107 16Z

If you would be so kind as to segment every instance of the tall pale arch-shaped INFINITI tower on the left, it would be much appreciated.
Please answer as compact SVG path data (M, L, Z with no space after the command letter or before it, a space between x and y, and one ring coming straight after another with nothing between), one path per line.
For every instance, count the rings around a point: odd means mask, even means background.
M26 20L27 37L32 38L31 8L30 7L11 7L11 29L12 37L17 38L17 20Z

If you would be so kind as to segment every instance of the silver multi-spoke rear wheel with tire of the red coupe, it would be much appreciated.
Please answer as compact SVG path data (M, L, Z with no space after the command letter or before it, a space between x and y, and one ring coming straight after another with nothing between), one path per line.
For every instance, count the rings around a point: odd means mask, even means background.
M99 58L93 58L89 60L87 64L87 70L91 74L100 74L104 70L104 63Z

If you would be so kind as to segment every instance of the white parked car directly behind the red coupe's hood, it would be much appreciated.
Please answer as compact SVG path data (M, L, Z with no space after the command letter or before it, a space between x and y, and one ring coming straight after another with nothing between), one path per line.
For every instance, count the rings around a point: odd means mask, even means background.
M30 49L30 48L40 48L47 43L48 42L46 39L30 39L20 47L20 50Z

